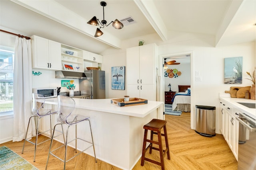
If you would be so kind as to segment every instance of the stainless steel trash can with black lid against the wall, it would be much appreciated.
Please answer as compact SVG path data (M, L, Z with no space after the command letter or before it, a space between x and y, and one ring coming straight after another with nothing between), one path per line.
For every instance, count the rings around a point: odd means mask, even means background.
M215 111L214 106L196 105L196 133L213 137L215 133Z

